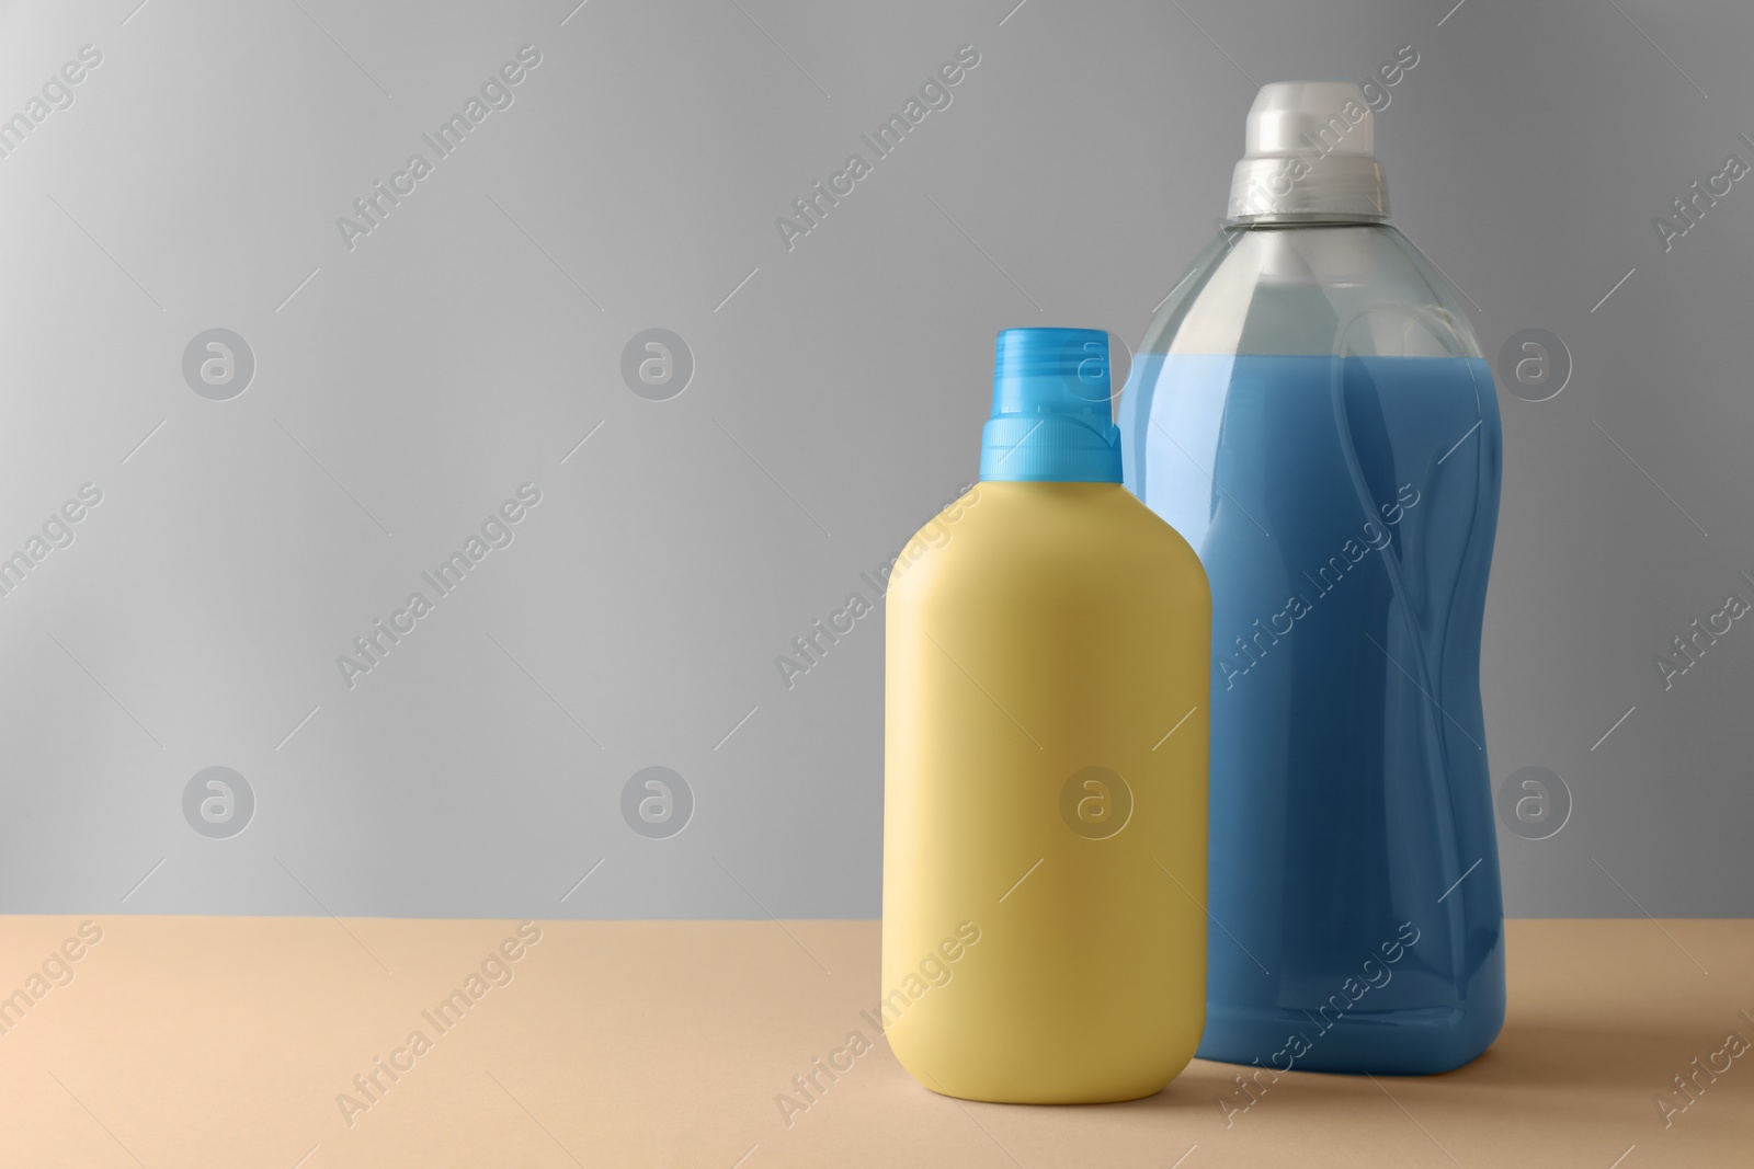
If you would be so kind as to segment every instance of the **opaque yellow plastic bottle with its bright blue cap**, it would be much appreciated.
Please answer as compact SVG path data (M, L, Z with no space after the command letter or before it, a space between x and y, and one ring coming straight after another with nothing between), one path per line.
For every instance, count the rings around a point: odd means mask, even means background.
M1000 333L980 482L889 580L879 1011L945 1095L1151 1095L1205 1025L1212 598L1107 356Z

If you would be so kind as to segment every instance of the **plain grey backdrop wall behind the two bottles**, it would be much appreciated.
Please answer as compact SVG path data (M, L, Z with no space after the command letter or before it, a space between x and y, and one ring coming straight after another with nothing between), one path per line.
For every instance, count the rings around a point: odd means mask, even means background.
M103 492L0 599L0 910L877 915L882 619L791 691L775 655L973 477L996 329L1137 340L1256 84L1414 46L1394 219L1487 356L1544 328L1575 361L1500 391L1493 775L1575 804L1500 832L1507 910L1754 913L1754 629L1654 668L1754 598L1754 177L1652 226L1754 163L1747 5L137 4L0 14L0 114L103 54L0 158L0 552ZM526 44L349 251L337 217ZM788 251L775 217L965 44ZM210 328L254 352L230 401L182 375ZM668 401L621 377L649 328L695 358ZM335 657L524 482L514 543L349 691ZM184 820L214 766L254 794L230 838ZM649 766L686 831L623 820Z

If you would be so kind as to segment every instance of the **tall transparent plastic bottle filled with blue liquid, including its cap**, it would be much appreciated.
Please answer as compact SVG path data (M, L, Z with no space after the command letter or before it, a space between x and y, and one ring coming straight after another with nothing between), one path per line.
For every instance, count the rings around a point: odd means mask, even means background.
M1491 372L1387 221L1356 86L1279 82L1119 407L1212 584L1200 1057L1438 1073L1505 1010L1480 712Z

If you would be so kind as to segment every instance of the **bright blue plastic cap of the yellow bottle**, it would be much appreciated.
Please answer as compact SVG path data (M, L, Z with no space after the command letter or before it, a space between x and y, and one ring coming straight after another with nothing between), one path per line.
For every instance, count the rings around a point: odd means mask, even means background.
M1121 431L1102 329L1005 329L993 351L993 417L980 482L1121 482Z

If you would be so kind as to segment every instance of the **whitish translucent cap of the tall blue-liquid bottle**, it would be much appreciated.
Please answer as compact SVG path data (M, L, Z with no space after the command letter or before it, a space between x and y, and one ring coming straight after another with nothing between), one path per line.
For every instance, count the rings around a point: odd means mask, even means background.
M1261 86L1230 184L1230 221L1386 219L1389 196L1372 137L1370 103L1349 81Z

